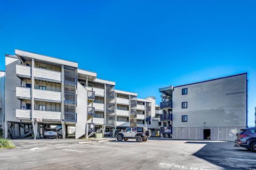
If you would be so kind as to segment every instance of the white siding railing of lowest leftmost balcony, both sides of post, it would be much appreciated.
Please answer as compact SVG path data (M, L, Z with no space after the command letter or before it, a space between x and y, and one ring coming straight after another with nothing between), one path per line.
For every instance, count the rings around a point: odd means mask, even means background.
M16 118L17 119L31 119L31 110L27 109L16 109ZM61 121L61 112L57 111L42 111L34 110L34 118L40 118L43 120L55 120Z

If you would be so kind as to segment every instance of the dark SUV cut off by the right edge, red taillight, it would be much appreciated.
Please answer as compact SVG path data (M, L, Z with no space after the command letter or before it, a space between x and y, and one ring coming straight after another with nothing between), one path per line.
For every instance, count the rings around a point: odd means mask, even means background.
M256 152L256 127L243 128L236 134L235 147Z

